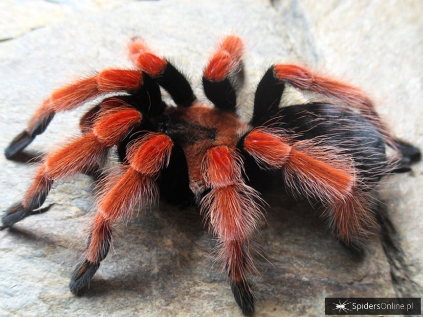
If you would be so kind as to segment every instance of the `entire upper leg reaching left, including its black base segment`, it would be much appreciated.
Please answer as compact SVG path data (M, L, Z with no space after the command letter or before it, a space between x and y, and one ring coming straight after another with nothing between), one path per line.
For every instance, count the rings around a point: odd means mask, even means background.
M147 115L157 115L164 110L160 89L155 81L138 70L106 69L96 76L79 80L59 88L45 100L22 131L5 149L6 158L26 148L37 135L43 133L56 112L72 110L83 103L107 93L129 92L134 105Z

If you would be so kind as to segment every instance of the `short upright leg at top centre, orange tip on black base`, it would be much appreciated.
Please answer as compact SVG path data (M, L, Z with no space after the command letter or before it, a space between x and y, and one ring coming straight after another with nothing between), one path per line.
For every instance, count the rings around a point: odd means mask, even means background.
M239 37L227 36L204 69L204 93L219 109L235 112L236 91L244 82L243 49Z

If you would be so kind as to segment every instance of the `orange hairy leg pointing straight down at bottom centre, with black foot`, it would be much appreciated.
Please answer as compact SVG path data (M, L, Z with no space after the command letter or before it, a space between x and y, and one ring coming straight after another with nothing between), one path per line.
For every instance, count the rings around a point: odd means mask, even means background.
M262 216L258 193L245 185L242 161L235 149L209 149L201 166L210 192L201 200L201 212L219 239L219 259L229 275L235 300L245 315L254 311L247 273L254 270L248 240Z

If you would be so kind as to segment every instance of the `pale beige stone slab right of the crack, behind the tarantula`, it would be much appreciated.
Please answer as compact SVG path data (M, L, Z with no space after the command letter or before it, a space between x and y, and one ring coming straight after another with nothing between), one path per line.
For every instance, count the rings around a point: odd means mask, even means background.
M324 5L316 5L307 1L305 7L321 57L319 64L359 80L356 83L371 93L394 133L422 148L422 3L325 1ZM407 271L395 272L393 265L393 275L398 275L400 284L411 278L420 290L422 173L422 164L417 164L411 175L396 175L381 190L381 199L397 231L396 239L401 243L397 246L404 261L400 266Z

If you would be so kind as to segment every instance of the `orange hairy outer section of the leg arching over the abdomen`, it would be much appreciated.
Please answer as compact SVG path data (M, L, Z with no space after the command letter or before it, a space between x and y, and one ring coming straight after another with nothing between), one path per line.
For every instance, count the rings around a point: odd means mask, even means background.
M329 77L319 76L310 69L290 64L277 64L273 66L275 77L281 82L301 89L316 92L326 97L334 98L345 106L354 106L360 114L366 117L383 135L385 142L396 148L388 127L380 119L373 101L359 88L333 80Z

